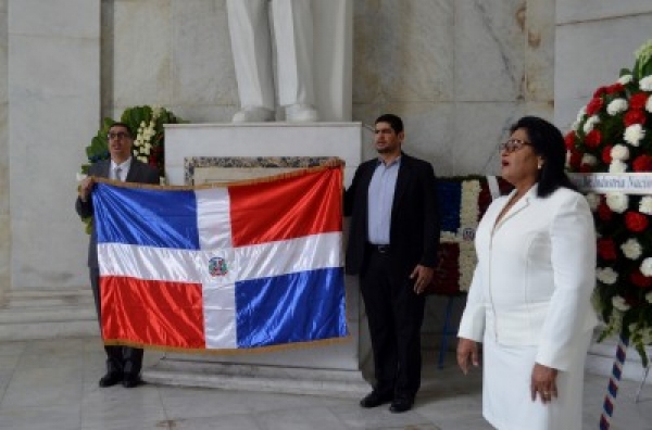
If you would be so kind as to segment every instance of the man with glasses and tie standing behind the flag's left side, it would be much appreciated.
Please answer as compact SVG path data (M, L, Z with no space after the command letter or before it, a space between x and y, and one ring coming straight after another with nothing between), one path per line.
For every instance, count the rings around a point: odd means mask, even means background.
M77 214L82 217L92 216L93 176L122 180L127 182L159 184L159 172L131 156L134 134L129 126L115 123L109 129L109 152L111 160L100 161L90 166L88 177L79 185L79 195L75 203ZM88 267L90 286L95 298L100 326L101 295L100 270L98 267L97 233L95 226L88 246ZM111 387L122 382L125 388L133 388L140 382L142 367L142 350L128 346L104 346L106 351L106 375L100 379L100 387Z

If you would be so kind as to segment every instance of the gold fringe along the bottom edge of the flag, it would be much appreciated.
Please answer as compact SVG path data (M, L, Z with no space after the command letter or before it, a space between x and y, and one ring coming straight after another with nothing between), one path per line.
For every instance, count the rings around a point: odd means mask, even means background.
M128 340L112 339L105 340L104 345L106 346L130 346L140 347L143 350L153 350L161 352L178 352L189 354L202 354L202 355L246 355L246 354L263 354L271 352L283 352L289 350L302 350L313 346L328 346L334 344L341 344L350 342L352 339L351 334L347 334L341 338L321 339L315 341L306 342L294 342L294 343L281 343L277 345L258 346L258 347L243 347L243 349L220 349L220 350L206 350L204 347L176 347L165 345L151 345L139 342L131 342Z

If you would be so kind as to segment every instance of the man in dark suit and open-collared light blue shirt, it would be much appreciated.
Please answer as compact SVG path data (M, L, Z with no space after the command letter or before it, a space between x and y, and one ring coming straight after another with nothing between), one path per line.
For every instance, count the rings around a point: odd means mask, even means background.
M376 383L362 407L391 402L412 408L421 387L421 326L425 288L432 279L439 215L432 166L401 151L403 122L376 119L378 159L361 164L344 193L351 216L346 269L360 276Z

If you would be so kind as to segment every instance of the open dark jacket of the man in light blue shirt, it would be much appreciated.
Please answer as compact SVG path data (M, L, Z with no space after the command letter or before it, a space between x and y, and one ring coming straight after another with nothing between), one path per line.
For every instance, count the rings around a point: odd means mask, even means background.
M346 269L360 274L368 252L367 195L378 160L369 160L355 170L344 193L344 216L351 216ZM437 185L432 166L401 154L401 165L391 210L391 261L401 276L409 276L417 264L435 267L439 246Z

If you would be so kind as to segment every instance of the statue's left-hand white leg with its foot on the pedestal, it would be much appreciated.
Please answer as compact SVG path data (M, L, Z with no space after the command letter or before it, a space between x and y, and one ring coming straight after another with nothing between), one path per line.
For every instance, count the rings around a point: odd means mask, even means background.
M226 1L241 106L234 122L274 119L274 72L267 2Z

